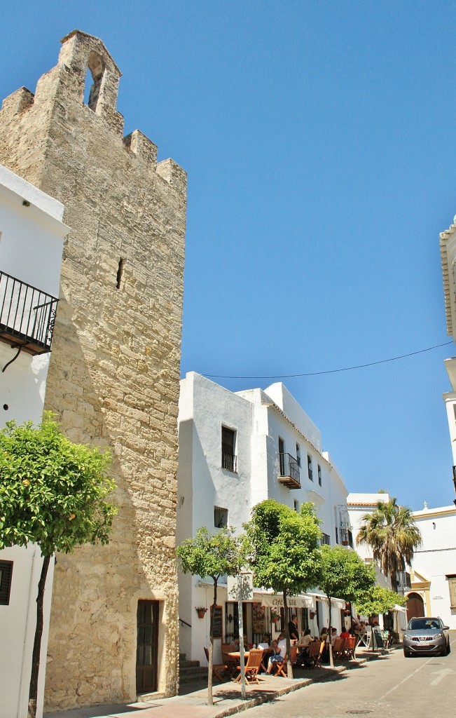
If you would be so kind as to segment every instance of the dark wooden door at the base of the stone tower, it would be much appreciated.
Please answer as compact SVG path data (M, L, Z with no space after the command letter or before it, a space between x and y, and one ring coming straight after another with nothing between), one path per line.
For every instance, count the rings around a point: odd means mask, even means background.
M157 690L158 601L138 601L136 642L136 692Z

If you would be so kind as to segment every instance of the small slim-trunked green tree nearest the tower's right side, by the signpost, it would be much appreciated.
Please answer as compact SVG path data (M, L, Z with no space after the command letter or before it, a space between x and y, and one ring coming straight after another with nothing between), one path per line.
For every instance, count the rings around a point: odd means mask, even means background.
M214 601L211 610L209 629L209 668L207 675L207 702L214 704L212 696L212 666L214 663L214 612L217 606L217 584L224 574L234 576L242 567L242 536L234 536L234 528L221 528L217 533L209 533L206 526L196 531L196 536L186 538L176 549L184 574L212 578L214 582Z

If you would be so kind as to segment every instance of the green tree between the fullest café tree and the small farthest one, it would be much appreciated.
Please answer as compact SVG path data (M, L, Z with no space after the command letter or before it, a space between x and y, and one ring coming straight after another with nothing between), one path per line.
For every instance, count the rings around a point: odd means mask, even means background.
M331 602L333 598L355 601L358 596L366 595L375 585L374 567L364 564L356 551L343 546L321 547L321 570L318 585L326 594L329 609L329 625L332 625ZM333 663L331 635L329 640L329 658Z

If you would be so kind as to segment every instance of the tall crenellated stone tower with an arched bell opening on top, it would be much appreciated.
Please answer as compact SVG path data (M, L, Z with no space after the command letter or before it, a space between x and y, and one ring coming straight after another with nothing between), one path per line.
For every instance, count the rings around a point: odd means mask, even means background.
M47 709L175 694L178 678L186 174L171 159L157 164L140 131L123 137L119 78L103 42L75 30L35 94L17 90L0 112L0 162L63 202L72 228L47 409L70 439L110 447L118 485L110 544L57 556Z

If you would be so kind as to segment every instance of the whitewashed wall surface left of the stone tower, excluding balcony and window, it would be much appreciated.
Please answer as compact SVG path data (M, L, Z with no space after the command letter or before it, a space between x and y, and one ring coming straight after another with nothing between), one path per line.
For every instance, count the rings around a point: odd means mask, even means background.
M24 205L26 200L29 205ZM0 165L0 270L43 292L59 296L63 241L69 228L62 223L63 205ZM0 426L42 419L49 355L32 358L20 353L2 373L16 349L0 342ZM0 605L0 635L7 650L0 653L0 718L27 715L36 597L42 557L37 546L0 551L13 561L9 605ZM38 711L42 715L49 611L54 562L51 561L44 600L44 632Z

